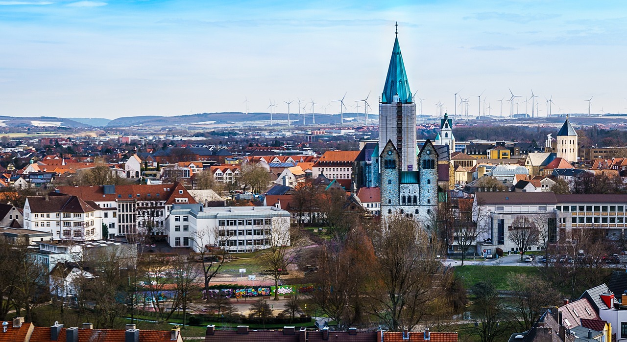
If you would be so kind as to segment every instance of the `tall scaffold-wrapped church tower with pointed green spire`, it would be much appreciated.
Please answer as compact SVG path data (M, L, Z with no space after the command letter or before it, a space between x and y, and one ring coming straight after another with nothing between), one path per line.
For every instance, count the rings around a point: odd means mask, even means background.
M392 58L387 68L386 83L379 102L379 151L383 152L391 141L399 155L401 171L415 171L416 167L416 103L413 101L409 81L398 43L394 39Z

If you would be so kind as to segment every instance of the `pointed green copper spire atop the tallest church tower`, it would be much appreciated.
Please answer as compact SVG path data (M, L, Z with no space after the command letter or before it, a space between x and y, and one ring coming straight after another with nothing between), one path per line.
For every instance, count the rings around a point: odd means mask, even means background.
M392 103L394 95L398 95L399 101L402 103L411 103L412 101L403 56L401 56L401 46L398 44L398 36L394 39L394 49L392 49L392 58L387 68L386 85L383 87L381 103Z

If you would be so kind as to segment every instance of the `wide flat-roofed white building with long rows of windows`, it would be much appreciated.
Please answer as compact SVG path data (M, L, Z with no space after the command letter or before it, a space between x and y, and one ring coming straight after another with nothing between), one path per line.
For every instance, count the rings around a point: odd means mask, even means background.
M175 204L166 217L171 247L223 246L229 252L270 247L270 239L290 244L290 213L277 207L209 207Z

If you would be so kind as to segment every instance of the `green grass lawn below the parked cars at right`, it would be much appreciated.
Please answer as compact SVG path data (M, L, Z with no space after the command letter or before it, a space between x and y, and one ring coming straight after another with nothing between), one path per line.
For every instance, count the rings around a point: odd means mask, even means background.
M466 289L470 289L486 277L492 277L497 289L508 290L507 279L510 274L538 275L540 271L536 267L465 265L455 267L455 273L463 277Z

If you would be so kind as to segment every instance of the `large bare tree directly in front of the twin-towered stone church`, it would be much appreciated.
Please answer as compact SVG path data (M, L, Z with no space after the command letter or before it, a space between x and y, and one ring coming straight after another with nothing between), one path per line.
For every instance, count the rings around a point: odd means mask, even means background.
M429 236L415 220L390 215L382 221L380 231L372 234L377 265L377 279L370 313L381 319L392 331L413 329L433 311L433 299L440 295L444 270Z

